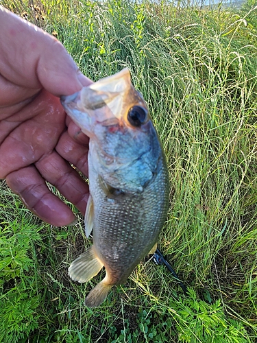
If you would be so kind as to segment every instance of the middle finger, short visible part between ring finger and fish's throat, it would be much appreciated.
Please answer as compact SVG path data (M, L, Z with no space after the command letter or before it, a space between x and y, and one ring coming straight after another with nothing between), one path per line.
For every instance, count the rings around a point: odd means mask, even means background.
M82 174L88 176L88 144L79 144L68 132L63 132L56 145L56 151L66 161L75 165Z

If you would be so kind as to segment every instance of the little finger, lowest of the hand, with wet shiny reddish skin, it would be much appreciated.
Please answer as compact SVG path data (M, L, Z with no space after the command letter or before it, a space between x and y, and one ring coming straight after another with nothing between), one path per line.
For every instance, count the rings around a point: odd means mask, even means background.
M75 215L69 206L49 191L35 167L29 166L12 172L6 177L6 182L21 197L25 206L44 222L64 226L75 221Z

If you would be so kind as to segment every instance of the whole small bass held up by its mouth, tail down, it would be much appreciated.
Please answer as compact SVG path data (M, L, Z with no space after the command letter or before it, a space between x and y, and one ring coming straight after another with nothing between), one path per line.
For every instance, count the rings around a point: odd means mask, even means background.
M85 283L103 268L106 276L86 296L103 303L136 265L157 247L169 209L169 171L160 139L129 69L60 98L89 137L85 230L93 245L73 261L69 276Z

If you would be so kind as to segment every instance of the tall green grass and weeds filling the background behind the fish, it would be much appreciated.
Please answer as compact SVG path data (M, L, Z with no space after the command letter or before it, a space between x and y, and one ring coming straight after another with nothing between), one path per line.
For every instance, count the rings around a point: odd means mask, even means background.
M130 68L171 176L159 246L190 290L143 261L85 308L103 274L86 285L67 276L92 243L83 218L50 227L2 183L0 342L257 342L257 9L0 3L56 32L89 78Z

